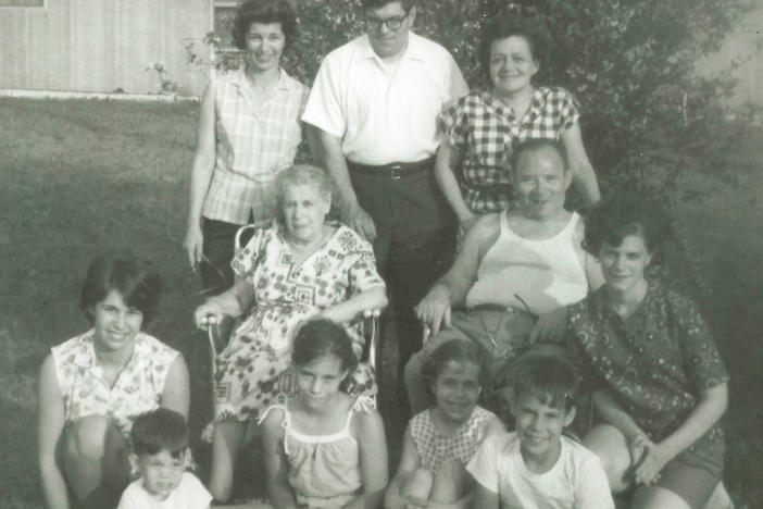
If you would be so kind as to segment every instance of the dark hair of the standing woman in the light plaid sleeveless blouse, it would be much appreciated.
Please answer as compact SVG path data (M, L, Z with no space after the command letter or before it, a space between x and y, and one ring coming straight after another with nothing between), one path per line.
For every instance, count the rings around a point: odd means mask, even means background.
M230 29L236 48L247 49L247 33L252 23L280 23L287 48L297 37L297 14L287 0L247 0L241 3Z

